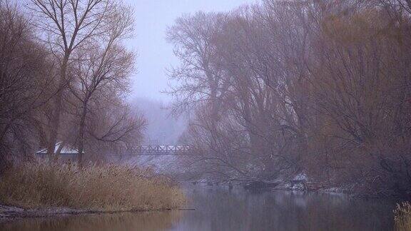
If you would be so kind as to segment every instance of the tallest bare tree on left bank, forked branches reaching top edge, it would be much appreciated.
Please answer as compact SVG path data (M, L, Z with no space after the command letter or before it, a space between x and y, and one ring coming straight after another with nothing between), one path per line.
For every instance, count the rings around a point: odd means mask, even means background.
M106 32L112 14L116 14L117 6L121 4L121 1L112 0L30 0L29 9L35 13L36 26L44 31L40 39L59 63L58 88L49 125L49 155L54 154L64 91L71 81L67 73L71 56L74 51L98 41L98 36Z

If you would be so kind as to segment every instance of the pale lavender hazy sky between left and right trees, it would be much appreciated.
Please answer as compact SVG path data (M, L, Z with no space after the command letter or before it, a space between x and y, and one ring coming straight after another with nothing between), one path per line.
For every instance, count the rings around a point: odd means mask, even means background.
M128 46L138 52L138 73L133 76L132 98L168 101L166 68L176 66L166 29L182 14L196 11L229 11L255 0L126 0L136 9L136 36Z

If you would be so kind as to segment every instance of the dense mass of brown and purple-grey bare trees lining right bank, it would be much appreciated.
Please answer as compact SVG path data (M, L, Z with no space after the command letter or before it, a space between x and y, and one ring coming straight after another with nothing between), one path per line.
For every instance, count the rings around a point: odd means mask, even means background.
M196 170L371 196L411 193L411 2L265 0L179 18L176 113Z

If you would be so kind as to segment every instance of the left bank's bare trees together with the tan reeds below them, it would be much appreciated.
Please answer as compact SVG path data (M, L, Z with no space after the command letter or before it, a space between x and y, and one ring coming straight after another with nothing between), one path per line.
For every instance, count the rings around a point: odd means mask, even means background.
M136 54L124 44L133 20L133 8L118 0L0 0L0 203L103 211L181 205L166 178L105 164L106 154L116 160L117 150L141 143L146 123L126 102L136 71ZM37 163L39 150L49 161ZM78 164L64 163L62 150Z

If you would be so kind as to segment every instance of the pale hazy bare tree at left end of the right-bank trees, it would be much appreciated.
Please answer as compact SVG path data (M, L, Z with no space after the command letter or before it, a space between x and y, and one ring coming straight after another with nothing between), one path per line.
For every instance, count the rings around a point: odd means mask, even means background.
M172 87L176 97L176 112L186 110L199 102L208 102L217 120L219 101L223 98L226 86L223 83L218 53L215 43L225 22L223 14L184 16L176 20L176 25L167 31L167 39L174 45L175 55L182 61L181 66L173 68L169 76L184 83Z

